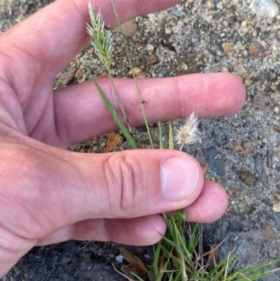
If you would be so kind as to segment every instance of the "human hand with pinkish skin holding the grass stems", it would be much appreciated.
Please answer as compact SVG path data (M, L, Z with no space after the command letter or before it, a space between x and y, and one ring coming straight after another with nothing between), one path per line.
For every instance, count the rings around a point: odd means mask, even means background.
M126 22L179 1L115 2ZM116 26L109 0L94 6L102 6L106 25ZM36 245L70 239L151 245L165 233L161 212L183 208L189 221L210 222L226 210L223 188L204 181L186 153L66 150L117 129L92 81L52 90L55 76L88 45L88 18L87 1L58 0L0 36L0 276ZM108 79L99 84L115 104ZM141 125L134 82L116 79L116 86L131 123ZM151 101L149 123L193 111L235 114L245 100L239 78L226 73L141 79L139 88Z

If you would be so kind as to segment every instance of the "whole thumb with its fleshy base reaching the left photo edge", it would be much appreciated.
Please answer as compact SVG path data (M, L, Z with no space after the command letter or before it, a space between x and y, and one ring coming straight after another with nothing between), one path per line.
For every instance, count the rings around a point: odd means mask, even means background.
M204 181L197 161L180 151L86 154L11 144L7 151L0 211L4 226L27 239L85 219L179 210L195 201Z

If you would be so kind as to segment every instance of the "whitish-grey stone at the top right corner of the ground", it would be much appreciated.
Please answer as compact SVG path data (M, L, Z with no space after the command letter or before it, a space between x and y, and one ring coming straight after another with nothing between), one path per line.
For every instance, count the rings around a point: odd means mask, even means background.
M253 0L249 8L253 13L264 18L274 18L279 14L279 7L273 0Z

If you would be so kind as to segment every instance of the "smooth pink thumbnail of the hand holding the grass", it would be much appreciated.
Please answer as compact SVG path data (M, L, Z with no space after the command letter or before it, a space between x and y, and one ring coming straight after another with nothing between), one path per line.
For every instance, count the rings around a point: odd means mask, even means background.
M198 181L198 169L188 158L173 157L161 166L162 194L167 200L182 200L190 196Z

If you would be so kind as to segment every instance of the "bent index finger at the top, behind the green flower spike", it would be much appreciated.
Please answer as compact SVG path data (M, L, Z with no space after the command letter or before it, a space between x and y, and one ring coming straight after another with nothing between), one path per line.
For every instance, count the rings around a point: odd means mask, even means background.
M120 22L169 8L178 2L179 0L114 0ZM94 0L94 8L102 10L106 25L116 27L111 0ZM42 62L44 70L50 70L50 74L55 76L90 43L86 22L89 22L87 0L57 0L21 22L17 28L10 29L6 36L9 43Z

